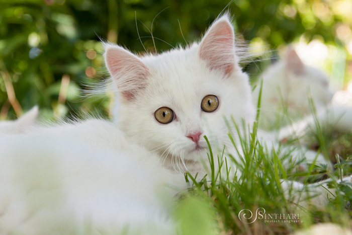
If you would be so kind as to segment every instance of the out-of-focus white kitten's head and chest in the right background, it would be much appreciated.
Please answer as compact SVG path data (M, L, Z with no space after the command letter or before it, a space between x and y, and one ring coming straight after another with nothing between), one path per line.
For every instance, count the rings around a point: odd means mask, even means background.
M328 77L321 70L305 65L294 49L260 76L253 92L255 104L261 80L260 128L272 129L297 121L310 113L310 96L319 110L331 102L333 95Z

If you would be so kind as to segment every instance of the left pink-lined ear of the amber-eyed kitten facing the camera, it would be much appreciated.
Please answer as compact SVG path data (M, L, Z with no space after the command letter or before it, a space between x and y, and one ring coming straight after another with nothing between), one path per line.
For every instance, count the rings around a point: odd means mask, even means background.
M105 64L118 91L128 101L145 87L149 75L147 66L134 54L122 47L105 44Z

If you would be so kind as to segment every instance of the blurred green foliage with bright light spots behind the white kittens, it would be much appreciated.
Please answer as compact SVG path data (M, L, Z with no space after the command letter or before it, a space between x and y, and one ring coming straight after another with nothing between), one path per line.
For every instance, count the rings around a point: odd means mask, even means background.
M304 62L330 75L335 90L347 89L351 0L0 0L0 119L34 105L51 120L109 116L107 97L84 97L85 85L107 77L100 38L161 52L199 39L224 10L238 37L259 48L259 61L244 64L251 76L293 44Z

